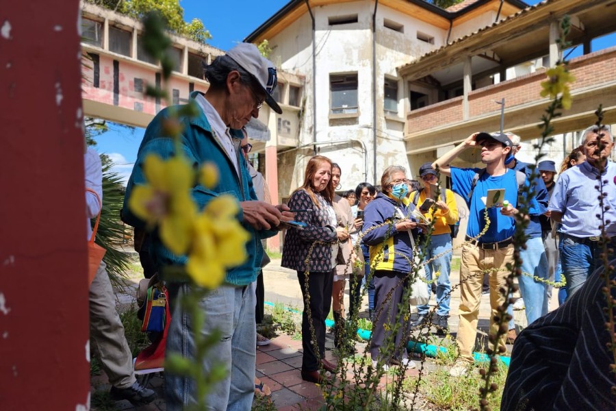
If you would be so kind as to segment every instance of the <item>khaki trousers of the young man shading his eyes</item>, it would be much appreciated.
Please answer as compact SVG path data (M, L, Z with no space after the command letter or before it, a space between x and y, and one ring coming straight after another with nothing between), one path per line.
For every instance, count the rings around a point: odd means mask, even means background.
M506 296L502 295L498 289L506 288L506 277L509 275L506 269L508 262L513 264L513 245L498 250L483 250L475 245L464 245L462 248L460 325L456 338L462 360L473 361L484 271L488 271L490 280L490 306L492 308L490 333L496 333L498 329L493 317L498 314L496 308L505 301ZM505 340L506 334L501 336L498 345L505 347Z

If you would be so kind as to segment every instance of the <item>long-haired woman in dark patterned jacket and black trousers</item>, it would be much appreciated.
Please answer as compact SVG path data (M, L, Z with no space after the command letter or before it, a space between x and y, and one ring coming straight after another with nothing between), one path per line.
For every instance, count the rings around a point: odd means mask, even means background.
M325 319L331 308L338 240L348 238L344 228L336 228L332 206L334 188L329 184L331 164L331 160L322 155L311 158L306 166L304 184L291 195L288 206L298 210L296 221L305 223L306 227L287 229L281 262L283 267L297 271L304 297L301 373L303 379L316 383L322 382L320 367L335 371L335 366L324 359Z

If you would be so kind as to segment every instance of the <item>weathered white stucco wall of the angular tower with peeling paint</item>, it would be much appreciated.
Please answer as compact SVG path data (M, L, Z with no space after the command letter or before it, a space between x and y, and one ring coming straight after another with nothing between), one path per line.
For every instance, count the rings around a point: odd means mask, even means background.
M305 14L283 32L268 39L273 48L270 58L279 62L282 69L306 78L304 95L305 112L301 119L300 145L313 142L313 112L316 115L316 141L337 142L349 139L360 140L361 144L319 145L318 151L327 155L342 168L342 189L355 188L365 181L374 182L373 145L373 98L372 98L372 12L374 4L369 1L340 3L313 8L316 18L316 111L313 110L312 75L312 32L311 19ZM357 23L329 25L331 16L357 14ZM404 33L384 27L384 19L403 25ZM417 32L434 37L434 45L418 40ZM378 5L376 13L376 179L380 180L383 170L392 164L409 169L409 160L402 141L405 123L405 98L408 91L398 80L398 113L387 113L383 109L385 77L398 79L396 67L407 64L415 56L433 48L441 47L446 30L439 29L411 16ZM330 115L330 83L332 74L357 73L358 114L344 119L333 119ZM296 150L279 156L285 164L285 175L279 174L281 195L290 192L303 181L303 173L309 150ZM366 170L366 162L368 167ZM290 172L290 167L293 171ZM414 173L409 173L409 176Z

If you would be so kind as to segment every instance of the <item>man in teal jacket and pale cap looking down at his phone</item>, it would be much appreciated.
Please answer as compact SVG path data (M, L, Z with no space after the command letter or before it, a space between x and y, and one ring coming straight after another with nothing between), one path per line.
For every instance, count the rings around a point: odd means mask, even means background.
M226 55L218 56L205 68L205 77L209 82L205 95L201 92L190 95L198 106L198 114L179 119L185 126L181 143L191 162L196 165L204 162L216 164L220 177L214 188L196 184L192 188L192 197L202 208L222 193L235 195L241 208L237 218L251 234L251 240L246 242L249 257L244 264L229 269L224 283L201 299L199 306L205 314L205 321L200 329L192 329L190 312L179 304L179 297L190 292L190 284L168 282L173 310L166 354L179 353L192 360L196 354L194 334L207 337L220 332L220 341L211 348L211 355L201 362L201 368L205 375L211 375L216 366L222 365L226 375L202 398L197 398L194 379L167 371L166 408L183 410L196 401L205 400L208 410L250 410L255 392L257 338L255 292L251 283L257 279L261 266L263 247L259 240L276 234L274 229L282 222L291 221L294 214L285 205L272 206L258 201L246 161L240 153L241 129L252 117L259 116L264 102L277 113L282 110L272 98L277 82L276 69L261 56L255 45L241 43ZM169 158L174 151L175 141L162 132L164 119L169 115L168 109L162 110L146 129L127 184L123 218L133 227L144 227L144 222L137 219L127 206L133 186L145 182L144 159L150 153ZM175 256L166 249L157 235L153 236L151 255L162 273L162 266L186 262L185 256Z

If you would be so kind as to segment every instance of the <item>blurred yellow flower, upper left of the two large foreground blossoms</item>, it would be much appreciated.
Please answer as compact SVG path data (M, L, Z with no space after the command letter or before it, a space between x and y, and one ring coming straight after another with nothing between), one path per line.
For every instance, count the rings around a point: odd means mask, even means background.
M196 206L190 197L194 172L181 157L162 160L150 154L143 164L148 184L135 186L129 208L150 226L159 225L160 237L168 249L185 254L192 237Z

